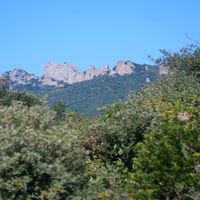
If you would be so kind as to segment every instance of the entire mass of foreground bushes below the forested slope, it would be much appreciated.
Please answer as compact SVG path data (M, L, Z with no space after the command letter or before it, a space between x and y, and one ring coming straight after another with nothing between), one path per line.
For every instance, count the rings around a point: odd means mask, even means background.
M200 199L197 52L171 55L194 62L99 117L65 112L61 102L52 111L35 96L27 105L27 94L10 98L2 82L0 98L10 103L0 101L0 199Z

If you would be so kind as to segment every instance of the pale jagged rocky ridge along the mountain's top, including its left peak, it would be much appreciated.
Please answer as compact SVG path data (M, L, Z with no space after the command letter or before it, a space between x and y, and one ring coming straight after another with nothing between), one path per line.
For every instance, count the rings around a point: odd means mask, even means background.
M65 84L73 84L91 80L95 77L103 75L123 76L133 74L135 73L136 65L137 64L131 61L118 61L114 68L110 68L108 65L103 65L99 68L96 68L95 66L91 65L86 71L79 72L77 66L74 64L69 64L66 62L63 64L49 62L46 64L44 74L41 77L29 74L21 68L15 68L11 71L3 73L1 76L8 78L11 87L28 84L37 86L62 87ZM149 65L146 65L144 69L148 71L148 68Z

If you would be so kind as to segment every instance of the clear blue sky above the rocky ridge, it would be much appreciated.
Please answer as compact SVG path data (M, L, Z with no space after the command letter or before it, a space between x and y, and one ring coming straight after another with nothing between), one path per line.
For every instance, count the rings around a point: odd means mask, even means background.
M191 43L186 35L200 41L200 0L0 0L0 72L147 63Z

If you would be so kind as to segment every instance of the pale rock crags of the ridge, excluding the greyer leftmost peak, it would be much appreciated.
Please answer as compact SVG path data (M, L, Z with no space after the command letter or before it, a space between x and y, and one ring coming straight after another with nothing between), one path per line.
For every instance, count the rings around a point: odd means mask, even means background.
M85 72L79 72L76 65L73 64L50 62L45 66L44 75L41 80L44 85L57 85L55 81L72 84L91 80L103 75L114 76L117 74L132 74L134 73L134 69L135 66L130 61L119 61L113 69L110 69L108 65L103 65L99 68L91 65Z

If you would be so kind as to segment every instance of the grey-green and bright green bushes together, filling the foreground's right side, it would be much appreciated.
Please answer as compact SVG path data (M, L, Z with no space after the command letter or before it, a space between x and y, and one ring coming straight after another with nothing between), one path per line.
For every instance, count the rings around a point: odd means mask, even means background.
M131 93L125 103L105 107L90 127L90 158L111 166L121 178L118 190L130 198L199 198L200 84L197 71L195 76L190 72L162 77ZM109 188L117 195L108 174Z

